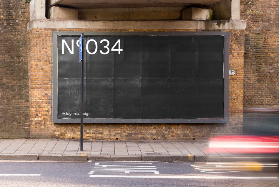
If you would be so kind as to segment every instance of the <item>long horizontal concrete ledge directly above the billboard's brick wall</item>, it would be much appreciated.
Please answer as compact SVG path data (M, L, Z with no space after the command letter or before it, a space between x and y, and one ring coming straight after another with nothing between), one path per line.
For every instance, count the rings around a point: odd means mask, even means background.
M82 21L82 20L39 20L27 24L27 30L46 29L199 29L199 30L241 30L246 21Z

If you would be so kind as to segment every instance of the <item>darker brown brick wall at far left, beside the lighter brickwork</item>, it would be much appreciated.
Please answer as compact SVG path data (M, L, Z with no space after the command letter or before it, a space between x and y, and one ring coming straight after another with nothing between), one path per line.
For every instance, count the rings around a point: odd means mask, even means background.
M30 136L28 21L23 0L0 0L0 138Z

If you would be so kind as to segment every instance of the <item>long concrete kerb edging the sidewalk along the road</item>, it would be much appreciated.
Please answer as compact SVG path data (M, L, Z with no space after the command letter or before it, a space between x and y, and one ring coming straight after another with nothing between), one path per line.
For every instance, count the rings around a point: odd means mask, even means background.
M91 161L157 161L157 162L278 162L278 157L221 156L221 155L56 155L0 154L0 160L91 160Z

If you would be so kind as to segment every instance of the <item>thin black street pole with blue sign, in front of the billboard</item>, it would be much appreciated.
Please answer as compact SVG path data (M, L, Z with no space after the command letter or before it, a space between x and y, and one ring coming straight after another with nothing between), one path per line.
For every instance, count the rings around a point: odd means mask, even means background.
M81 81L80 81L80 150L83 151L83 46L84 33L79 38L79 62L81 62Z

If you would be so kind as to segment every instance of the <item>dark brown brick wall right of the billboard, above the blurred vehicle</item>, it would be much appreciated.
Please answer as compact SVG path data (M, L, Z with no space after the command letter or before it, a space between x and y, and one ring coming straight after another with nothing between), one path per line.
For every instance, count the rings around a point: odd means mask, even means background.
M244 107L279 106L279 1L241 1L245 30ZM259 14L249 18L253 7Z

